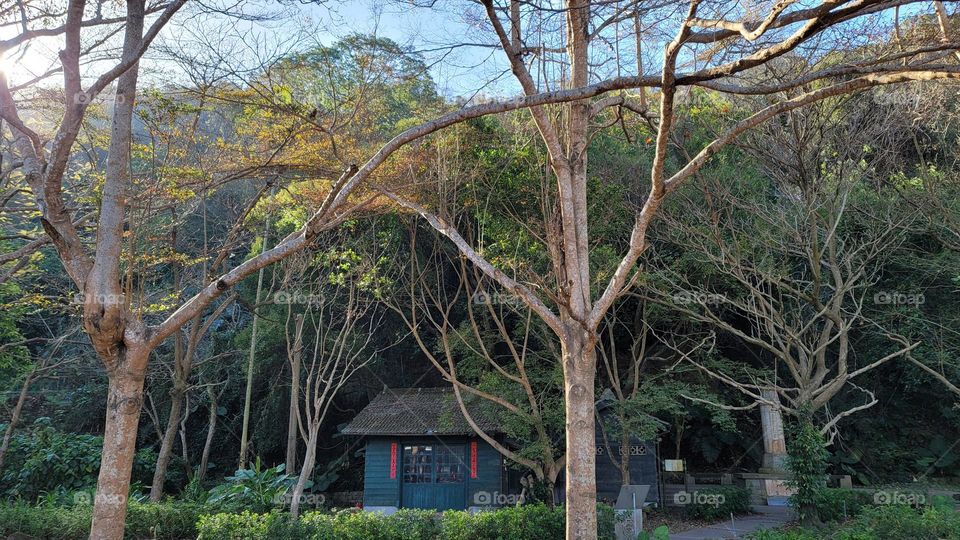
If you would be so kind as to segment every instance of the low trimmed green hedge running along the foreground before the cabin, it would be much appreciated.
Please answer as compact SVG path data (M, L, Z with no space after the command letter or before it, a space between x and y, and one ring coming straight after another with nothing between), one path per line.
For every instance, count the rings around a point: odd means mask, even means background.
M136 540L548 540L562 538L566 523L562 507L544 505L477 514L404 509L391 516L351 509L308 512L296 521L279 511L205 514L209 511L209 507L183 502L131 502L124 536ZM89 505L0 504L0 538L85 539L90 532L91 513ZM614 510L597 505L597 517L598 538L613 539Z

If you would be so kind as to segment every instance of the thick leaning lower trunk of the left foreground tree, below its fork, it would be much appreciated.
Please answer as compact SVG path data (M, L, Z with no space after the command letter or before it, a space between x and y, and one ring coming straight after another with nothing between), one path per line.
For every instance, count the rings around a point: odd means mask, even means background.
M146 348L126 349L117 369L108 373L107 420L90 524L91 540L123 538L149 354Z

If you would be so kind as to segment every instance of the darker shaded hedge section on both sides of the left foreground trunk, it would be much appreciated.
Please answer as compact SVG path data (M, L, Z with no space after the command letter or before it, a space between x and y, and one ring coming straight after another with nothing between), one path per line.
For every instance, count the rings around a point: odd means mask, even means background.
M93 508L0 505L0 537L15 533L36 538L87 538ZM139 504L127 508L125 536L133 539L196 538L201 506L185 503Z

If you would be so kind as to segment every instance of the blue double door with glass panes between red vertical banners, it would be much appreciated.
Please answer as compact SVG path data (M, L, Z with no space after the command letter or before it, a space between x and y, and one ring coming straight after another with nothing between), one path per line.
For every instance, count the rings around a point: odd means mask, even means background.
M404 508L463 510L466 471L462 444L409 444L403 447Z

